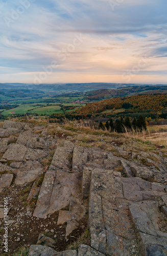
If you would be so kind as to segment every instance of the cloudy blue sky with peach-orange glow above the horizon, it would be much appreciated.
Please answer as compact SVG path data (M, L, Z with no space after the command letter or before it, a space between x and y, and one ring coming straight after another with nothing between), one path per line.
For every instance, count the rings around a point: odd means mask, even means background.
M166 0L1 0L0 82L167 83Z

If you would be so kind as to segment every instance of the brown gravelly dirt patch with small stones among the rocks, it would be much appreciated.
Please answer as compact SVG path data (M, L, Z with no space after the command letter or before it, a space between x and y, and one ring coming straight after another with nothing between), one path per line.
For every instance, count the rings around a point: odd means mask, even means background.
M4 198L8 198L8 207L10 208L8 219L14 221L8 226L8 238L9 238L9 252L8 255L13 255L18 251L21 246L30 246L36 244L39 233L42 232L45 236L52 237L56 241L56 251L63 251L67 249L71 244L75 243L82 233L87 228L87 217L85 216L79 223L78 229L74 230L69 237L65 238L66 223L63 225L57 225L57 219L59 212L55 212L53 215L49 215L47 219L39 219L33 217L31 211L27 211L26 201L19 200L20 191L25 190L28 184L25 185L13 185L10 188L6 188L0 195L0 204L4 205ZM2 221L2 219L1 219ZM4 222L2 221L0 229L0 254L3 255L4 247ZM48 231L49 230L49 231ZM51 231L52 230L52 231ZM16 241L16 240L20 241Z

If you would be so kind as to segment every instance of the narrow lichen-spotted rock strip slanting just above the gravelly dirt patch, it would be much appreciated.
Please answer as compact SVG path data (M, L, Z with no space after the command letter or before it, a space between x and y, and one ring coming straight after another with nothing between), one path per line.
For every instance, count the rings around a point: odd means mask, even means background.
M44 176L33 216L44 218L48 214L56 172L47 171Z

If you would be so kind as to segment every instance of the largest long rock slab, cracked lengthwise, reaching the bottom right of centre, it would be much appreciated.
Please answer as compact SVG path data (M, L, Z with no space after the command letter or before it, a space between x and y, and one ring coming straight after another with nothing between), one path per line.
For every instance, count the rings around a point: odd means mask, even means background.
M133 243L137 237L124 200L121 173L92 169L89 230L91 247L103 254L127 256L133 245L137 246Z

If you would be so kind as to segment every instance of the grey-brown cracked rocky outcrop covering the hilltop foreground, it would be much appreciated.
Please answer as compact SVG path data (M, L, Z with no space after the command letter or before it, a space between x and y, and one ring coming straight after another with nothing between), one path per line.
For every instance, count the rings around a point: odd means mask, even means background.
M54 226L63 226L65 243L81 228L88 213L90 246L57 252L57 234L54 240L40 232L28 255L167 255L165 158L120 147L117 152L122 157L117 157L64 139L58 143L46 130L44 126L34 129L41 131L40 137L25 123L4 122L0 130L0 191L4 193L11 183L29 184L27 202L34 200L34 210L26 207L27 216L40 220L41 227L54 216L49 221L50 225L53 222L52 232ZM46 168L43 160L51 156L52 146L55 152ZM1 204L0 218L3 211ZM11 221L11 226L18 225Z

